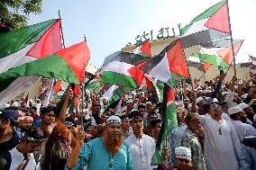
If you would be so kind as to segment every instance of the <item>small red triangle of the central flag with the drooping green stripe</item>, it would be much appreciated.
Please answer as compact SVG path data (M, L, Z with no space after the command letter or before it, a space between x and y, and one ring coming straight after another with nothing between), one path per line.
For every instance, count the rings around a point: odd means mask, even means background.
M144 77L145 72L142 71L142 69L140 69L140 67L142 67L142 65L145 63L146 61L131 67L130 69L128 69L128 72L130 74L130 76L133 77L133 80L136 82L136 85L141 86L142 84L142 79Z

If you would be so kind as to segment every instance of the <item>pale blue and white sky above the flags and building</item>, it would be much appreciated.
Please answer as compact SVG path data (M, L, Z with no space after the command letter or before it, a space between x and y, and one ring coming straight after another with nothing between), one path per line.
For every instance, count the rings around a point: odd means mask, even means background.
M135 42L143 31L178 29L220 0L43 0L42 13L29 15L29 24L62 18L66 47L84 40L91 52L89 62L100 67L104 58ZM256 1L229 0L233 39L245 40L236 62L256 57ZM177 30L178 32L178 30Z

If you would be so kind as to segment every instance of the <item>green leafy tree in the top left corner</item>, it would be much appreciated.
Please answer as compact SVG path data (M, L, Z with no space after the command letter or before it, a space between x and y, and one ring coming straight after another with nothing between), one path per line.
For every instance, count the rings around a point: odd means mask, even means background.
M42 0L0 0L0 22L5 22L11 29L27 25L28 15L41 13Z

